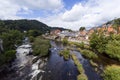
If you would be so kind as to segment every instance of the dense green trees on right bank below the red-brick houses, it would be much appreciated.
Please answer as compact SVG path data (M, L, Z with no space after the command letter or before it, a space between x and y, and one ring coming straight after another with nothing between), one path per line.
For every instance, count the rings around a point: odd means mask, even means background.
M90 47L98 53L107 54L110 58L120 61L120 35L93 33L90 38Z

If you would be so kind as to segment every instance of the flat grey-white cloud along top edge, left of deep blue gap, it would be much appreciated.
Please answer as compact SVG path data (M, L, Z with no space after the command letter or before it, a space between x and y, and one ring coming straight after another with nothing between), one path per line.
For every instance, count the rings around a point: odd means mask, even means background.
M12 2L33 10L56 10L63 7L62 0L12 0Z

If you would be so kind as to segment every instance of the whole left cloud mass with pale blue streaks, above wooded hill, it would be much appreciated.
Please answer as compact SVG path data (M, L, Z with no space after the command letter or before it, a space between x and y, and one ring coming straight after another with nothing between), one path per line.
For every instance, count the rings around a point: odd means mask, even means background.
M31 14L34 10L57 11L64 7L62 0L0 0L1 19L20 19L18 14Z

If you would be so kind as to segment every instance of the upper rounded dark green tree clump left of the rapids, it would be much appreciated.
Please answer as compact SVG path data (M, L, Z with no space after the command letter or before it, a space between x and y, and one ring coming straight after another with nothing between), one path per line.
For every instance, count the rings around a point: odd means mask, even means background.
M8 30L0 35L3 40L4 51L15 49L15 45L22 43L23 34L18 30Z

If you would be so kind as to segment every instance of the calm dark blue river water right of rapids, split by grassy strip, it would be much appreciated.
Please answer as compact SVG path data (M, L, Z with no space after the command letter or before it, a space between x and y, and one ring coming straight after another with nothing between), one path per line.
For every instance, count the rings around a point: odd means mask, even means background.
M42 80L77 80L76 77L79 73L73 61L71 59L65 61L62 56L59 56L59 51L64 49L65 46L54 41L51 41L51 45L51 54ZM80 60L88 80L102 80L94 71L89 61L83 58L79 52L73 50L71 54L75 54Z

